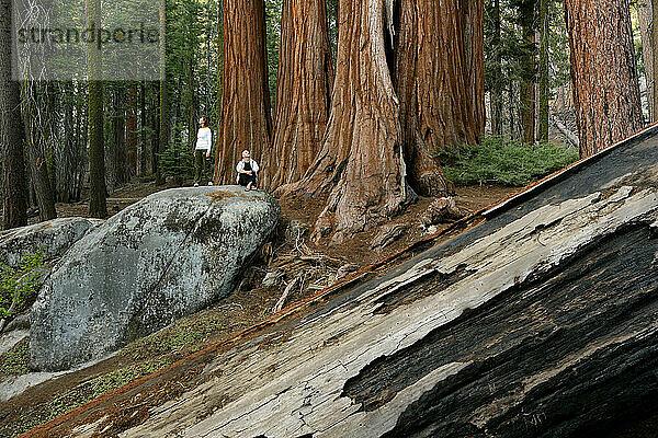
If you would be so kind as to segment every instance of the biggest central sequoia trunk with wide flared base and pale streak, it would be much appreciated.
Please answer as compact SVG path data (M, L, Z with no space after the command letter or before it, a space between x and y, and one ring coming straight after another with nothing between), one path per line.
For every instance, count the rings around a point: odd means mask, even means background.
M328 195L314 238L340 242L407 200L399 105L386 64L383 0L341 0L331 116L318 157L293 189Z

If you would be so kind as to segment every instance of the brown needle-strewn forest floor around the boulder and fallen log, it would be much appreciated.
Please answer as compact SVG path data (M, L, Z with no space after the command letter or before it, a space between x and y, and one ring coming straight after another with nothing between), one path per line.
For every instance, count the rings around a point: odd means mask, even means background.
M107 200L111 215L164 187L138 184L113 193ZM477 211L513 193L519 187L481 185L457 187L456 204L465 211ZM406 224L407 231L381 250L371 242L379 230L367 230L340 245L316 245L297 233L291 235L291 222L310 228L322 209L319 200L288 198L281 201L282 218L277 237L268 251L254 257L243 278L229 297L211 308L184 318L160 332L136 341L112 357L81 370L59 376L34 385L0 403L0 436L11 437L63 415L73 407L160 370L189 355L214 345L269 318L274 308L304 300L331 284L341 267L354 270L395 254L429 235L420 216L432 198L419 198L393 224ZM87 204L58 204L59 217L87 216ZM34 221L35 219L33 219ZM304 227L306 224L306 227ZM388 224L387 224L388 226ZM447 224L444 224L447 226ZM439 228L442 228L440 226ZM263 278L271 277L269 286ZM291 286L290 295L282 291ZM25 338L0 356L0 380L27 373Z

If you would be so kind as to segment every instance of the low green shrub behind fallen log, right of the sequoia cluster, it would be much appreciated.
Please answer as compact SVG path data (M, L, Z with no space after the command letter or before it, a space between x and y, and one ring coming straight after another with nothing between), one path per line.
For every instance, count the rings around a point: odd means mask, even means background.
M485 137L478 146L461 146L436 157L445 176L456 185L523 186L577 161L578 151L551 142L529 146L502 137Z

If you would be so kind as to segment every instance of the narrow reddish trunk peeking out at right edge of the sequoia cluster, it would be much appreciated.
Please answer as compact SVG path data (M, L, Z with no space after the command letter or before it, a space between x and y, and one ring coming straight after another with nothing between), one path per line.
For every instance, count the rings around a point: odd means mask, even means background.
M460 0L464 33L464 61L477 137L485 134L485 0ZM441 3L434 3L439 7Z

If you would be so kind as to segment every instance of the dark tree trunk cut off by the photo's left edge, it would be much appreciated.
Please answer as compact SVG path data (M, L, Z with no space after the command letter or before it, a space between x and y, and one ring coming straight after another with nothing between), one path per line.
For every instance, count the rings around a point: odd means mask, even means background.
M12 78L12 1L0 0L0 152L2 159L2 229L27 224L25 130L19 83Z

